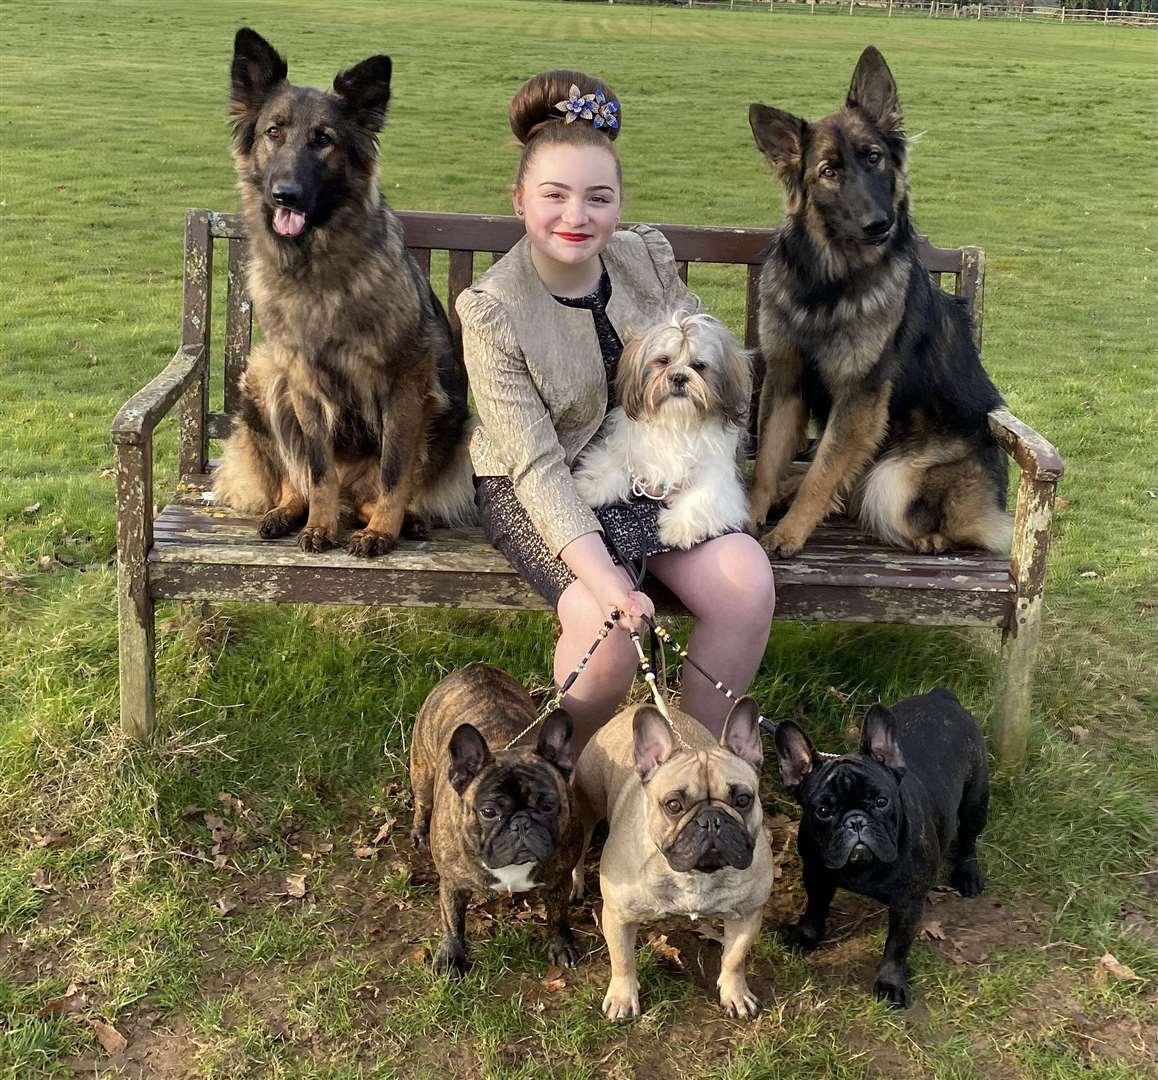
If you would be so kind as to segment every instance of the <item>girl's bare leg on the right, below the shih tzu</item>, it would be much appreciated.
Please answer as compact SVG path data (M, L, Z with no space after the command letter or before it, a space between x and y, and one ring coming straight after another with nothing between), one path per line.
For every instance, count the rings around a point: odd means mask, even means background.
M688 653L725 686L743 693L763 659L776 607L772 570L760 544L734 532L655 556L647 567L696 616ZM718 736L731 707L713 683L687 666L684 712Z

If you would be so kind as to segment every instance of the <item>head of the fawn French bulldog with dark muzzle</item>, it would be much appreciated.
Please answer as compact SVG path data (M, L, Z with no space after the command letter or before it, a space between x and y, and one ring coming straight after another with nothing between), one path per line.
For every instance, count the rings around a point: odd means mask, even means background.
M673 870L711 874L752 865L763 821L757 717L755 703L741 698L718 745L688 750L675 747L658 710L645 705L636 712L635 759L646 828Z

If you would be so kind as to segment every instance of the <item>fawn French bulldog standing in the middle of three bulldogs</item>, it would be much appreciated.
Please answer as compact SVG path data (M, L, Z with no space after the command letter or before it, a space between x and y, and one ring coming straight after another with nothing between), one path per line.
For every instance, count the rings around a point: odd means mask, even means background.
M758 1002L745 963L772 890L772 852L762 828L758 710L732 707L719 741L670 710L681 743L652 705L624 710L600 728L576 766L585 842L607 818L599 866L603 936L611 982L603 1014L639 1014L636 932L664 916L724 919L717 980L730 1016L748 1019ZM582 895L582 861L576 891Z

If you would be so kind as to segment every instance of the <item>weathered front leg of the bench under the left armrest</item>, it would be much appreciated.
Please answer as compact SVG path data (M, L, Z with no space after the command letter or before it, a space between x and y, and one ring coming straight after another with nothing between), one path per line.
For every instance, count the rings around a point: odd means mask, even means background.
M120 656L120 729L141 741L153 729L156 685L154 604L148 592L153 544L153 448L117 447L117 629Z

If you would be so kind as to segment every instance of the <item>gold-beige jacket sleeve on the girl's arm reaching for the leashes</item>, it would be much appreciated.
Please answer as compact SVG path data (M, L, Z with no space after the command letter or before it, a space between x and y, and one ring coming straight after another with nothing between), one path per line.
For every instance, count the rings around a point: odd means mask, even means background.
M576 490L551 414L527 369L500 301L475 289L460 294L462 348L475 409L515 497L556 556L576 537L601 532Z

